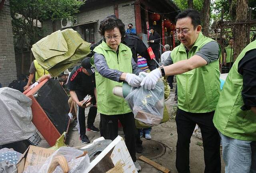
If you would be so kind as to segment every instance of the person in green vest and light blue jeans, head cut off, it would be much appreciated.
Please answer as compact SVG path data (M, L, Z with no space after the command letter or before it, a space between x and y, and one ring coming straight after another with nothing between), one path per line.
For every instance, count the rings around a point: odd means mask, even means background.
M256 41L238 55L213 118L226 173L256 172Z

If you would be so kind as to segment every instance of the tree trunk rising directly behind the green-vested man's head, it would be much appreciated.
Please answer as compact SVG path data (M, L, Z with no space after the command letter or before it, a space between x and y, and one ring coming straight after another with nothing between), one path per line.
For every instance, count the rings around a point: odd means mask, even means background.
M203 34L208 37L210 25L210 0L204 0L204 6L202 9L202 28Z

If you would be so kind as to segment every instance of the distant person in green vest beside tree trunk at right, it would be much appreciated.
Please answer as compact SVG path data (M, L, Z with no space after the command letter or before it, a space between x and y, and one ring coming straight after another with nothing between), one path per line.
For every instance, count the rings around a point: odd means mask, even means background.
M226 67L232 67L233 65L233 52L234 52L234 39L233 38L230 38L228 40L228 46L225 47L225 52L224 52L224 66Z

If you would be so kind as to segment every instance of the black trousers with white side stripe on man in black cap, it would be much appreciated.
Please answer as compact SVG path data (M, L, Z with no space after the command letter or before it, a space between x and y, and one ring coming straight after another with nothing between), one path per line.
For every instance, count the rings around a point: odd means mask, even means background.
M93 105L96 105L96 99L95 99L95 96L94 96L93 92L91 92L91 93L82 93L82 92L76 91L76 95L77 95L79 101L82 101L87 94L90 94L92 96L92 101L91 102L92 102ZM80 136L86 134L84 111L85 111L85 108L82 108L82 107L78 106L77 122L78 122L78 134ZM97 114L97 108L95 106L90 107L89 112L88 112L87 127L90 127L94 124L96 114Z

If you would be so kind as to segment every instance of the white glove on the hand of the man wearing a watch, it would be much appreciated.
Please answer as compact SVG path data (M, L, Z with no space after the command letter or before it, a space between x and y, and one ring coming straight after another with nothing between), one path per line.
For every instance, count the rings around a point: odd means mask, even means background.
M140 86L144 86L148 90L155 88L158 79L162 77L160 69L154 69L142 80Z

